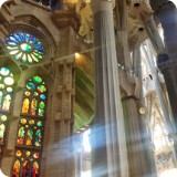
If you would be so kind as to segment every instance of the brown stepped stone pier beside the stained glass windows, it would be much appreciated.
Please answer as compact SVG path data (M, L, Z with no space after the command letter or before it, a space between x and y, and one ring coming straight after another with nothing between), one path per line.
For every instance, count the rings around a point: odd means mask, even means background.
M45 174L50 177L74 177L74 150L72 145L74 102L74 54L72 53L72 29L61 30L59 59L53 61L53 85L49 137L46 139ZM58 54L58 53L56 53Z

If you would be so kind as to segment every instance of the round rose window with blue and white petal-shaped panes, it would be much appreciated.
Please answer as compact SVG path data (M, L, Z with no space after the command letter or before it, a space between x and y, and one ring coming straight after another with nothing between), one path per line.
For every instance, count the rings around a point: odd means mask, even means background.
M22 63L39 63L44 56L42 42L23 32L11 33L7 38L7 50L14 60Z

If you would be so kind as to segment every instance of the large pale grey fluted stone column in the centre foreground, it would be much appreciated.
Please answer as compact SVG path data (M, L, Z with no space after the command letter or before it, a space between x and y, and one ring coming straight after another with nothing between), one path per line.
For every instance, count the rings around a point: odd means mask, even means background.
M93 177L128 177L112 8L111 1L93 1L96 95Z

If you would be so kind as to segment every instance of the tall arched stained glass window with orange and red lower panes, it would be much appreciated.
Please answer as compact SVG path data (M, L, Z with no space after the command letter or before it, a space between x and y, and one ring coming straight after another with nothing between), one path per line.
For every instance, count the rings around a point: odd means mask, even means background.
M42 77L28 80L23 94L21 118L17 135L14 177L39 177L45 121L46 86Z

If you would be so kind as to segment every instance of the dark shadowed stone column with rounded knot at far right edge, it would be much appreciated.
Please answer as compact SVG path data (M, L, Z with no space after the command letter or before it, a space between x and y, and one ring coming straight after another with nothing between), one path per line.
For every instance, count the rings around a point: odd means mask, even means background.
M168 0L155 0L152 1L152 7L155 11L155 14L159 18L164 30L164 39L167 48L167 53L160 52L157 56L157 65L162 71L166 87L169 96L169 103L173 112L173 117L175 121L175 132L177 133L177 9L176 6ZM177 140L175 138L175 150L177 155Z

